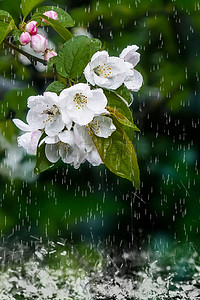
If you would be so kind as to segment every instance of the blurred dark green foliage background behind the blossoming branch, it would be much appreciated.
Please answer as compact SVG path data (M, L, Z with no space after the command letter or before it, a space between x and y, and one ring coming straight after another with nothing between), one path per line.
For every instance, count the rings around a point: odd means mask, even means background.
M0 47L0 235L3 244L63 239L110 248L161 250L175 242L200 246L199 1L44 1L75 20L74 34L101 39L110 55L136 44L144 84L131 109L140 132L134 147L141 188L104 165L74 170L62 162L39 176L35 158L17 147L26 101L55 79ZM20 1L1 0L19 21ZM50 28L58 51L63 40Z

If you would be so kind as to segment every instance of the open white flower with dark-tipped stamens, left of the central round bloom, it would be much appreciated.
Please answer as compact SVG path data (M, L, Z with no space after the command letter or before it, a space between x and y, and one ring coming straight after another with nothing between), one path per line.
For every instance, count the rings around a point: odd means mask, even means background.
M31 96L28 98L28 107L30 110L27 114L27 122L32 128L44 128L49 136L57 135L65 125L71 127L69 118L65 117L66 124L62 120L59 97L56 93L45 92L43 96Z

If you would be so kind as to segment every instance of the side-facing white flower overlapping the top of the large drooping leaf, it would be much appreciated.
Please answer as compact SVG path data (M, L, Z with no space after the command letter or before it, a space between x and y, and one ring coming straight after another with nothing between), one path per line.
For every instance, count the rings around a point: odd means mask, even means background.
M112 119L102 115L94 117L92 122L86 126L75 124L75 142L82 151L87 152L86 159L93 166L98 166L102 163L102 160L92 140L92 134L108 138L115 130L116 127L114 126Z

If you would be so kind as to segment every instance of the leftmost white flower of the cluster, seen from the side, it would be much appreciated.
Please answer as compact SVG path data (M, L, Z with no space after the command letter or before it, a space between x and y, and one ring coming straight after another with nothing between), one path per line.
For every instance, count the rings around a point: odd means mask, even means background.
M36 155L37 145L42 135L41 131L33 129L19 119L13 119L13 122L20 130L26 131L26 133L18 137L18 146L23 147L28 154Z

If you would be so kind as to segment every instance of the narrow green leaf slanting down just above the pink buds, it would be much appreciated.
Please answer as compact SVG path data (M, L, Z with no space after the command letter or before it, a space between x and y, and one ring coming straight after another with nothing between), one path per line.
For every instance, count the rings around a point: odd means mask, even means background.
M42 19L46 20L48 22L48 25L50 25L55 31L57 31L65 41L68 41L73 37L73 34L62 24L60 24L58 21L51 19L47 16L44 16L41 13L35 14L34 20L37 18L40 18L41 20Z

